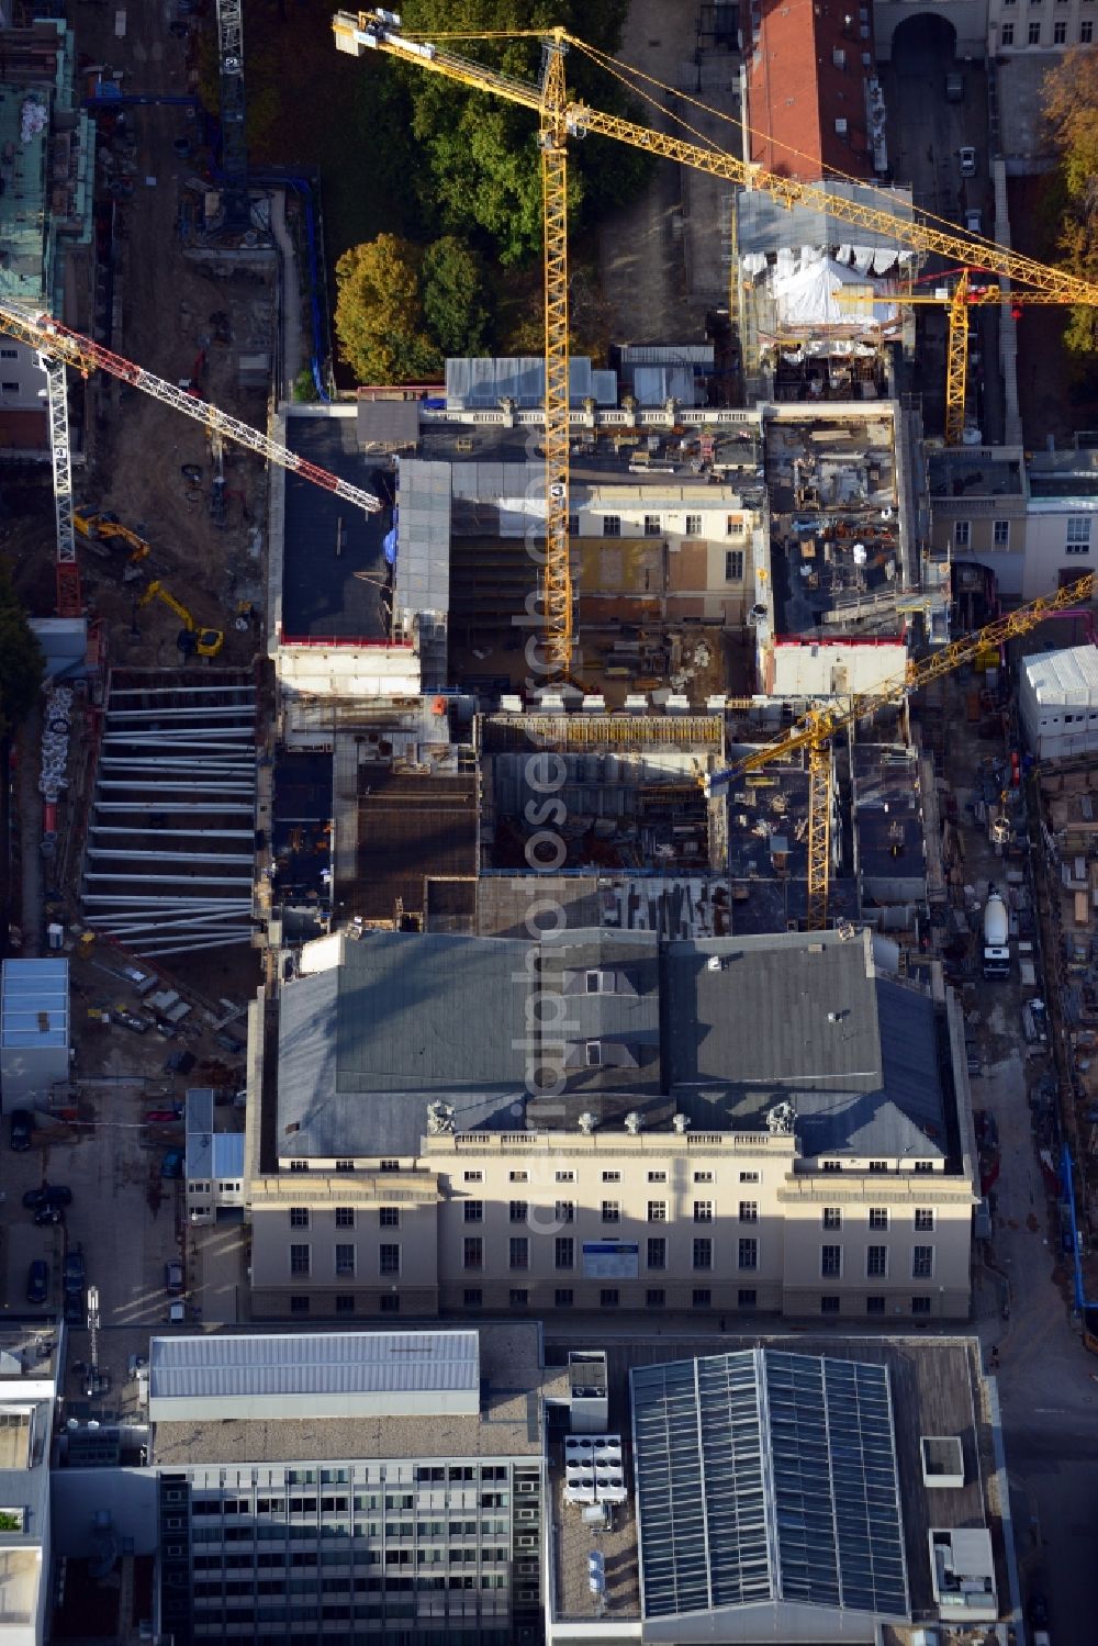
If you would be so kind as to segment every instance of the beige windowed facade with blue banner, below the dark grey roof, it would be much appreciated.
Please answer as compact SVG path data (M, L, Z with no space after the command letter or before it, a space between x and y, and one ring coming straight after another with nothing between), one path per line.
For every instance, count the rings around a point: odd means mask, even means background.
M283 1172L250 1185L252 1309L966 1318L970 1180L914 1159L826 1165L789 1134L607 1126Z

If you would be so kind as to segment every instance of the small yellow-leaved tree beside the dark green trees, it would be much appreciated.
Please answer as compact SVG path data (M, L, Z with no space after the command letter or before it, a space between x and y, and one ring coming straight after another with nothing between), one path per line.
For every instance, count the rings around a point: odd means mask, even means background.
M336 263L336 336L367 384L433 377L441 356L423 329L421 252L395 234L352 245Z

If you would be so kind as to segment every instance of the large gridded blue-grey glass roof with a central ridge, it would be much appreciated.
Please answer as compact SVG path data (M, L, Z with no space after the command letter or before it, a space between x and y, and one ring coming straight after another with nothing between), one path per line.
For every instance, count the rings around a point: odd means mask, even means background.
M746 1350L630 1381L645 1620L767 1602L910 1616L884 1366Z

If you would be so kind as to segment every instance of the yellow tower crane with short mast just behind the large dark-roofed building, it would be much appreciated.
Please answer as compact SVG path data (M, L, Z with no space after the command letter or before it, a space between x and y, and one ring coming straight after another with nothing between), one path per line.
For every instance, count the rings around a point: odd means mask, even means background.
M909 663L902 675L877 686L876 691L863 693L821 703L808 709L792 728L774 742L764 744L744 756L734 765L721 772L710 772L705 779L706 795L713 797L737 777L757 772L774 760L784 760L800 749L808 751L808 928L821 932L828 923L828 879L831 869L831 759L830 747L836 732L844 731L858 721L872 719L879 709L905 703L912 691L930 685L942 675L951 673L963 663L971 663L984 647L1001 647L1021 634L1029 634L1045 617L1068 611L1080 601L1091 599L1095 593L1095 576L1088 573L1077 583L1068 583L1055 594L1044 594L1029 606L1019 606L1006 617L976 629L975 634L963 635L940 647L919 663Z

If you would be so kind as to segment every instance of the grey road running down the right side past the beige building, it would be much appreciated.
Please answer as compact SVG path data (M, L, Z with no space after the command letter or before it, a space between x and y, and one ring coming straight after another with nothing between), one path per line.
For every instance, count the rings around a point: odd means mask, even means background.
M948 777L961 816L981 759L1001 756L1001 744L979 742L965 721L965 691L971 685L956 677L951 681ZM961 839L965 882L1003 884L1004 863L986 831L966 826ZM1091 1554L1098 1527L1098 1383L1091 1374L1098 1361L1085 1353L1072 1327L1057 1266L1055 1205L1034 1147L1027 1091L1049 1060L1022 1044L1021 1006L1031 993L1021 988L1017 971L1006 983L978 978L965 993L966 1017L984 1058L983 1078L971 1083L973 1108L994 1114L1001 1147L991 1243L998 1272L979 1276L975 1312L984 1348L999 1348L1022 1590L1047 1595L1055 1646L1090 1646L1098 1616L1098 1562ZM999 1314L999 1274L1011 1292L1006 1322Z

